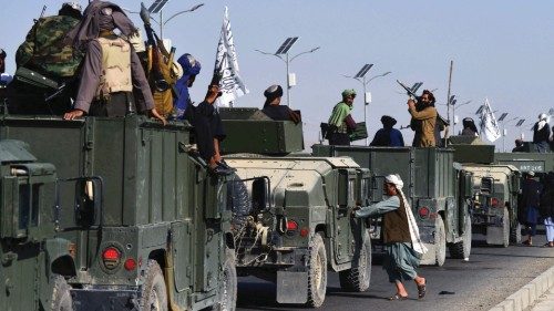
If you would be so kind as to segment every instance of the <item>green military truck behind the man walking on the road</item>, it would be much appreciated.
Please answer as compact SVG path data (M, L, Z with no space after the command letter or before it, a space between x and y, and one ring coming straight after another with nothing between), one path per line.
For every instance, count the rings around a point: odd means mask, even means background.
M400 175L421 239L429 249L421 265L444 265L447 247L452 258L470 256L471 173L454 165L452 149L329 145L311 148L316 156L349 156L369 168L372 203L382 200L384 176Z

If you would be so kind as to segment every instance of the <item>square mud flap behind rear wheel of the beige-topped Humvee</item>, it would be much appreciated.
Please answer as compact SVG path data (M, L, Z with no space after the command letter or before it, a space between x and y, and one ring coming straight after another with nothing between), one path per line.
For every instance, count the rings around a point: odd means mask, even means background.
M308 272L277 271L277 302L308 302Z

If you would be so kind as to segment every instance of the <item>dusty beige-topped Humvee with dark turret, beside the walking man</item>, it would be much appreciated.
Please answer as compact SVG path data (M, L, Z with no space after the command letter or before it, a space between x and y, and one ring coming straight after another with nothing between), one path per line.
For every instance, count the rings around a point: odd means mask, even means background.
M293 154L304 149L301 123L271 121L257 108L220 115L222 151L239 178L237 272L276 282L279 303L320 307L328 270L339 272L343 290L366 291L371 241L351 211L367 204L369 170L346 157Z

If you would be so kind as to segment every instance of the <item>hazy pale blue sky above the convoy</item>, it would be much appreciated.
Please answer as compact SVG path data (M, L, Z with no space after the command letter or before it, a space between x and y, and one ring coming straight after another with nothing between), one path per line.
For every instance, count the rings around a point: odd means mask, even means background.
M88 1L80 1L83 8ZM137 11L140 1L113 1ZM145 2L146 7L153 0ZM0 46L8 52L7 71L14 71L13 53L24 40L32 19L43 4L47 14L55 14L63 1L2 0ZM288 37L299 37L290 56L316 46L290 63L297 85L290 90L290 104L302 113L307 146L317 141L319 123L326 122L343 89L356 89L355 120L363 121L362 85L346 79L366 63L375 64L368 77L387 71L392 73L368 85L372 102L368 107L369 135L381 127L380 117L389 114L398 120L396 127L409 123L406 95L396 80L433 90L439 113L447 115L450 61L453 61L452 94L460 106L460 120L474 116L485 97L499 113L507 112L507 121L525 118L523 127L507 122L505 148L513 147L516 135L530 131L541 112L554 104L552 96L554 62L554 2L547 0L464 0L464 1L370 1L370 0L171 0L164 15L205 3L195 12L171 20L163 37L171 38L177 54L196 56L203 71L192 89L193 101L202 101L212 77L224 7L229 8L230 23L238 52L240 74L250 93L236 106L258 106L270 84L286 84L285 63L271 55ZM131 14L136 25L142 22ZM160 28L155 28L160 33ZM284 96L284 100L286 96ZM461 124L456 125L456 132ZM411 142L412 132L402 131ZM502 138L496 142L502 148Z

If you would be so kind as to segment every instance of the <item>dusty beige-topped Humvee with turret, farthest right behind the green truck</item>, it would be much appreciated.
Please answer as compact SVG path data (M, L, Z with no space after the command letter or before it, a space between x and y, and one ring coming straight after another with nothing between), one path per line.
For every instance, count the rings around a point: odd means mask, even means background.
M471 205L474 234L486 236L486 243L507 247L521 241L517 221L520 172L509 164L494 164L494 145L478 137L451 136L454 159L473 173L474 200Z

